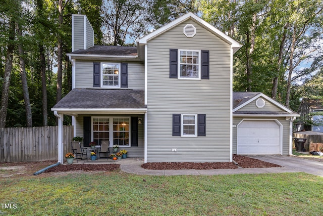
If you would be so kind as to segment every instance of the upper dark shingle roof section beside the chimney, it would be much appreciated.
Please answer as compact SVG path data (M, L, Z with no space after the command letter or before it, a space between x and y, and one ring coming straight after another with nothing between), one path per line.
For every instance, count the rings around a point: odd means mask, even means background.
M98 46L90 47L86 50L77 50L71 54L87 55L106 55L106 56L136 56L136 47L119 47L119 46Z

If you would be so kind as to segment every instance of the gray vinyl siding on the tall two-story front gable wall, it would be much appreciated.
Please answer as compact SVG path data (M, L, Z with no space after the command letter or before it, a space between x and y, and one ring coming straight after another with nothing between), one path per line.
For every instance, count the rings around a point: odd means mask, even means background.
M209 50L209 79L169 78L169 49ZM189 20L148 41L147 52L147 162L230 161L230 46ZM173 137L173 113L206 114L206 136Z

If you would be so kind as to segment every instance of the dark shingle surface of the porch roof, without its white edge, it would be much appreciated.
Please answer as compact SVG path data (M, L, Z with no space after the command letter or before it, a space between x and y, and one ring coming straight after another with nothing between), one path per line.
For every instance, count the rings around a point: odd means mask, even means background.
M59 109L140 109L144 90L73 89L52 110Z

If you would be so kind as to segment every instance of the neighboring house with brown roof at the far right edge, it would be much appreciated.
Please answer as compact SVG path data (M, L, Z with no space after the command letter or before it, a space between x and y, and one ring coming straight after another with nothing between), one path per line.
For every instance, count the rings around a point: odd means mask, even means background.
M302 99L297 110L297 113L300 114L301 118L305 119L307 114L313 113L313 112L323 112L323 99L307 99L307 98ZM314 122L323 121L323 115L313 115L309 120ZM298 124L298 125L299 125L299 128L297 128L298 131L305 129L304 125L301 125L301 124ZM323 133L323 126L311 125L310 129L311 131Z

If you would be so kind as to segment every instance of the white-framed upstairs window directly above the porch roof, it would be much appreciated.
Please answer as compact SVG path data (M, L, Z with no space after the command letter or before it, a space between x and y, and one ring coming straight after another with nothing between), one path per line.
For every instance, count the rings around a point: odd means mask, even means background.
M101 87L120 87L120 64L102 63L102 83Z

